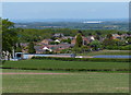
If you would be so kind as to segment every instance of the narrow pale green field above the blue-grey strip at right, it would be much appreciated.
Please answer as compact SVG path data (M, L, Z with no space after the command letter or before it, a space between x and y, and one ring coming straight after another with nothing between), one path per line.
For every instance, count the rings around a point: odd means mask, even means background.
M83 56L97 56L97 55L129 55L130 50L99 50L92 51L87 54L82 54Z

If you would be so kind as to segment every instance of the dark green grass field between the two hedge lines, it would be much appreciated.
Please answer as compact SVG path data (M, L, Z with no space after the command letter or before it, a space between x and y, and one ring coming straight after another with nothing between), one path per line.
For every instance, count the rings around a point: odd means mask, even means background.
M90 62L90 61L60 61L60 60L21 60L5 61L3 68L37 69L37 70L117 70L129 69L129 62Z

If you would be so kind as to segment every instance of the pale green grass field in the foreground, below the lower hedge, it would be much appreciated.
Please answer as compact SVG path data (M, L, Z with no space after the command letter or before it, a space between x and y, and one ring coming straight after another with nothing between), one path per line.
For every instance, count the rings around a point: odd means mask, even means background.
M3 72L56 73L37 70L3 70ZM2 80L3 93L129 93L128 73L3 74Z

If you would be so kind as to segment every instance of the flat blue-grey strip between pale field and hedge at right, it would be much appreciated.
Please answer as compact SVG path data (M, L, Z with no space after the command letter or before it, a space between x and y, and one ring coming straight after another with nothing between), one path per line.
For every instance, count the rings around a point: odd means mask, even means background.
M99 55L99 56L93 56L93 58L131 58L131 56L120 56L120 55Z

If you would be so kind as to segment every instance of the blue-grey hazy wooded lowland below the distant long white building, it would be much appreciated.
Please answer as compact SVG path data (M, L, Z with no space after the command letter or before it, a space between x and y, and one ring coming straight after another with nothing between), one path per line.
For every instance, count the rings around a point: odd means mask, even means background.
M23 28L76 28L76 29L118 29L128 31L129 23L121 21L106 21L102 23L84 23L82 22L32 22L32 23L16 23L16 27Z

